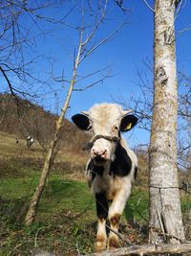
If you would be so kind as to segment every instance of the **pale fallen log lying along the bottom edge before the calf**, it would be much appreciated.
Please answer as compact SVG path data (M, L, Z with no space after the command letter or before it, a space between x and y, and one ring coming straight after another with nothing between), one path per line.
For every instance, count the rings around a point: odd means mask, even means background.
M86 254L86 256L125 256L130 254L163 254L163 253L187 253L191 252L191 244L145 244L122 247L114 250Z

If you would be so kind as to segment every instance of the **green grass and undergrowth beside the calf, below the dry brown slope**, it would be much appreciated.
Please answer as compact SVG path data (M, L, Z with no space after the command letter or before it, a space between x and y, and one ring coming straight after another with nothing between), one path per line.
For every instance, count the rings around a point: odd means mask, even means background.
M40 200L35 222L30 227L23 225L39 175L40 172L35 169L20 169L19 175L8 176L0 181L0 215L3 227L0 232L0 255L17 255L20 252L21 255L29 255L36 234L37 246L41 249L73 251L75 255L77 244L81 253L94 251L95 199L83 180L51 175L49 185ZM135 187L122 218L124 231L127 220L133 220L142 203L141 199L138 201L138 194L138 188ZM142 212L142 208L140 211Z

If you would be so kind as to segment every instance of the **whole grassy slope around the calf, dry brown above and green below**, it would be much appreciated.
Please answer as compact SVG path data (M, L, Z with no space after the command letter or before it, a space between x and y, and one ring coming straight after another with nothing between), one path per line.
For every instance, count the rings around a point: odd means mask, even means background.
M43 164L41 147L36 143L28 151L25 140L16 144L13 134L0 132L0 155L0 255L30 255L35 241L37 248L61 255L76 255L77 247L81 253L94 251L95 200L83 175L87 155L59 151L31 227L23 221ZM146 184L135 185L121 231L141 244L147 219Z

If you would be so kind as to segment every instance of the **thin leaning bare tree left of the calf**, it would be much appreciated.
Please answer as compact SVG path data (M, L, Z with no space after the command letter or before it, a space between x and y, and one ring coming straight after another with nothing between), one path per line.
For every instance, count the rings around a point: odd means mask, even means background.
M87 77L92 77L97 73L100 73L102 70L98 70L94 73L91 73L89 75L86 75L82 78L78 79L77 76L77 71L79 66L83 63L83 61L90 57L91 54L93 54L97 48L99 48L101 45L103 45L104 43L108 42L109 40L111 40L114 36L116 36L117 32L120 30L120 28L124 25L123 23L121 25L119 25L117 27L117 29L115 31L113 31L112 33L110 33L109 35L107 35L106 37L104 37L103 39L97 40L96 38L96 33L98 28L100 27L101 24L103 24L105 22L105 15L106 15L106 8L107 8L107 0L104 1L103 5L100 5L100 3L98 3L98 11L99 11L99 15L97 18L97 14L96 14L96 22L95 24L91 27L86 26L84 24L84 16L85 16L85 9L84 7L82 7L81 10L81 26L77 27L77 33L79 35L79 42L78 42L78 46L77 46L77 50L76 53L74 54L74 69L73 69L73 76L71 80L65 80L63 77L59 77L59 78L54 78L57 81L66 81L69 82L69 90L67 93L67 97L66 100L64 102L64 105L61 109L61 113L60 116L58 118L58 120L56 121L56 125L55 125L55 130L54 130L54 134L53 134L53 140L51 141L51 145L50 145L50 149L47 153L45 162L44 162L44 167L42 170L42 174L39 180L39 184L36 187L36 190L32 196L32 201L29 207L29 211L27 213L26 219L25 219L25 223L26 225L30 225L32 223L32 221L34 221L35 215L36 215L36 209L41 197L41 194L43 192L43 188L45 186L45 182L47 180L47 177L50 173L51 167L53 165L53 160L57 151L57 146L58 146L58 142L59 142L59 138L60 138L60 134L61 134L61 130L63 128L63 119L65 117L65 114L67 112L67 109L69 107L69 103L72 97L72 94L74 91L83 91L85 89L88 89L94 85L96 85L99 82L104 81L105 79L110 77L110 73L106 73L106 75L103 75L100 79L98 79L97 81L94 81L91 84L87 84L83 87L78 87L76 86L78 83L78 81L82 81L85 80Z

